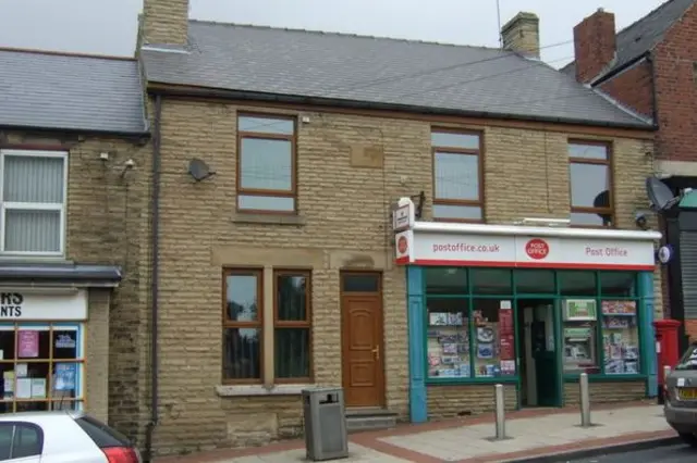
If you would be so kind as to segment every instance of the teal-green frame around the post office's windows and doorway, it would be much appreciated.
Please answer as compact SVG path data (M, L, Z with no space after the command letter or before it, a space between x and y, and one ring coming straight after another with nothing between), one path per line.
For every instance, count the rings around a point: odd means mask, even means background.
M448 279L448 275L451 278ZM635 271L574 271L549 268L499 268L499 267L457 267L457 266L409 266L407 267L407 287L409 301L409 359L411 359L411 410L412 421L423 422L428 416L426 405L426 386L432 385L474 385L474 384L513 384L518 391L523 377L519 374L521 349L518 312L528 301L551 302L553 310L554 342L554 397L547 405L563 405L564 383L577 381L578 372L564 372L564 329L573 322L565 322L562 313L563 301L595 301L596 308L602 308L603 301L624 302L636 308L636 345L638 359L635 373L608 372L608 352L603 346L603 335L608 329L603 324L602 309L598 309L592 321L587 321L594 331L592 342L596 349L596 362L588 370L590 381L636 381L647 384L647 395L651 395L650 380L656 376L656 352L653 339L653 281L652 273ZM571 284L573 283L573 284ZM579 289L578 289L579 288ZM469 356L468 374L458 376L433 376L429 358L429 334L432 310L429 305L443 306L443 302L457 301L463 308L463 325L466 331ZM466 301L466 303L464 303ZM496 375L478 374L476 362L477 327L474 312L482 302L497 304L510 302L514 333L515 371ZM445 305L447 306L447 305ZM496 306L496 304L494 304ZM501 312L501 309L499 309ZM614 318L615 316L612 315ZM582 322L583 323L583 322ZM497 333L497 336L500 334ZM417 358L418 356L418 358ZM595 368L592 367L595 366ZM595 370L595 371L594 371ZM415 384L416 383L416 384ZM416 386L416 387L415 387ZM521 395L518 393L518 406Z

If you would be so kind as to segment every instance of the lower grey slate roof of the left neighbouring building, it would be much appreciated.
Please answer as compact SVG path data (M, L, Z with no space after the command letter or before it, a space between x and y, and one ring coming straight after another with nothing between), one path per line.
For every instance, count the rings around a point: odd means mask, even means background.
M0 127L143 134L135 60L0 49Z

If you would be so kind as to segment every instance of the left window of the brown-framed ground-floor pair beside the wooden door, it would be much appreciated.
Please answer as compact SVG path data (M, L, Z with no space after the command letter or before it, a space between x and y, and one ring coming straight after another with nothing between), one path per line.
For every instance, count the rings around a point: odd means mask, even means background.
M260 270L225 272L222 323L225 381L261 381L262 280Z

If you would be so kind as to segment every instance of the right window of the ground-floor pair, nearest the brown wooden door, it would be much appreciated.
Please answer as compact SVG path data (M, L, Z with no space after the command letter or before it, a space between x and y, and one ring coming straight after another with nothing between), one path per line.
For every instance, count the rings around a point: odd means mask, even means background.
M310 380L310 275L277 271L274 359L277 381Z

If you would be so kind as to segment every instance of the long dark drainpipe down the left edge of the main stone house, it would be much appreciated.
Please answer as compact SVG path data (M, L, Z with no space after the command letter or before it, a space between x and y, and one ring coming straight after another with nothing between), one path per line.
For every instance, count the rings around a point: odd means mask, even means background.
M151 236L151 262L152 262L152 276L150 285L150 303L152 304L152 321L150 324L150 422L147 425L145 431L145 453L146 462L152 461L152 434L155 427L158 425L159 415L159 388L158 388L158 371L159 371L159 356L158 356L158 318L159 318L159 248L160 248L160 141L161 141L161 123L162 116L162 97L160 95L155 96L155 124L152 127L152 190L150 198L150 207L152 209L152 216L150 226L152 227Z

